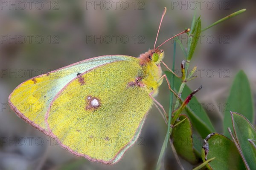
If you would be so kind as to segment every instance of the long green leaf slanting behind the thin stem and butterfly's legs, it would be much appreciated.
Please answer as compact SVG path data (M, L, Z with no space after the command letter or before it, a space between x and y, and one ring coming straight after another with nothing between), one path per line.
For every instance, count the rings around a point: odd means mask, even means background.
M168 80L172 82L172 73L166 71L165 74ZM175 77L174 80L174 88L179 89L181 85L180 79ZM187 85L185 85L181 95L181 99L184 100L191 93L192 90L189 89ZM209 133L215 132L215 129L212 126L212 123L207 113L204 111L204 108L201 106L195 96L189 101L189 104L185 109L190 121L192 122L193 127L195 127L195 129L198 131L202 138L205 138Z

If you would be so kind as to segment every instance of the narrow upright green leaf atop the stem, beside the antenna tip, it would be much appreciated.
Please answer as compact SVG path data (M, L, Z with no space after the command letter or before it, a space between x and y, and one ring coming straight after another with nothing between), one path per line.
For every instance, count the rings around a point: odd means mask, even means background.
M188 57L187 57L187 60L189 60L189 61L191 60L191 58L195 52L195 47L197 46L200 34L201 34L201 19L200 19L200 17L198 17L198 20L195 24L195 31L189 37Z

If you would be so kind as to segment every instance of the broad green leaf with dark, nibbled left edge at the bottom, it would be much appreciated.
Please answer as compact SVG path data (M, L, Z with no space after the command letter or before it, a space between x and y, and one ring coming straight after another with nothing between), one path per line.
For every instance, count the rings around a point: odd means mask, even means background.
M211 133L204 139L202 159L214 158L208 165L212 170L244 170L244 162L235 144L224 135Z

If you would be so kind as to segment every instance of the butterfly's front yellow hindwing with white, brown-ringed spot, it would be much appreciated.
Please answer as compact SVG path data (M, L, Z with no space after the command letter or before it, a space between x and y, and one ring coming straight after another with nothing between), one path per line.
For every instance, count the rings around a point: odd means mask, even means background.
M153 104L138 58L108 63L78 75L55 96L46 115L49 133L77 156L113 164L140 134Z

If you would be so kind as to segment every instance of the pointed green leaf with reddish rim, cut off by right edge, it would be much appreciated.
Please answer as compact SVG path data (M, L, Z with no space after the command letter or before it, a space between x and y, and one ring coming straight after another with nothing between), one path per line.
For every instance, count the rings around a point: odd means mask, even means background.
M254 146L250 144L248 139L256 140L256 130L243 115L236 112L230 112L230 114L232 117L236 141L238 142L242 152L241 155L244 157L250 169L255 170L256 152Z

